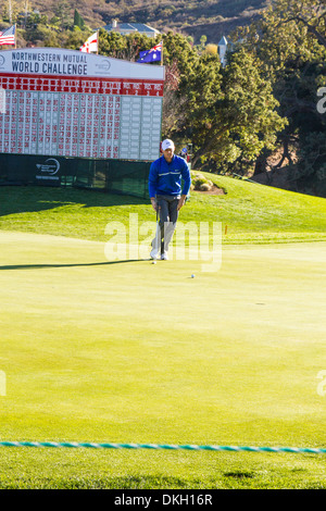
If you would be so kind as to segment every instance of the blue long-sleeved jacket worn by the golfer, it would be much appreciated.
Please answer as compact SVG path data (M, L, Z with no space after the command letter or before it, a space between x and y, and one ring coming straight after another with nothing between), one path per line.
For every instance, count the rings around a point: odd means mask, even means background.
M183 190L181 179L184 179ZM190 171L184 158L174 154L172 162L167 163L163 155L151 164L148 182L150 197L186 196L189 194L190 184Z

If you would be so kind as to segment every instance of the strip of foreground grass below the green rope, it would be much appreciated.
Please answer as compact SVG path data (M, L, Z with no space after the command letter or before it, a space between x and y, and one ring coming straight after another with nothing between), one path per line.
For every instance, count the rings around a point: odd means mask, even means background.
M30 449L5 452L1 469L0 489L325 489L313 456Z

